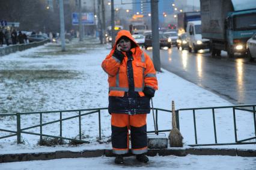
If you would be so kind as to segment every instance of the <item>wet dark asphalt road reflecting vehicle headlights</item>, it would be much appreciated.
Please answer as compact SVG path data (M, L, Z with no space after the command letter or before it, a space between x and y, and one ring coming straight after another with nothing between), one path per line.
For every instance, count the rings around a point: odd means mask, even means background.
M152 49L145 50L150 56ZM189 53L187 50L160 50L161 67L212 91L234 105L256 103L256 62L237 56L234 59L222 52L213 58L209 51Z

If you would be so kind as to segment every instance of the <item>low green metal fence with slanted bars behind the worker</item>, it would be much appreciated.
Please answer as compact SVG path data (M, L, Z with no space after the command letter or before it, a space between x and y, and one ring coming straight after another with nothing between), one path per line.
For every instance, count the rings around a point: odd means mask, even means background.
M189 144L189 146L207 146L207 145L240 145L240 144L256 144L256 142L247 142L251 141L252 139L256 139L256 117L255 117L255 106L256 105L239 105L239 106L221 106L221 107L209 107L209 108L187 108L187 109L178 109L175 111L176 115L176 121L177 121L177 127L180 129L180 114L183 111L190 111L191 114L193 114L193 123L194 123L194 137L195 137L195 144ZM248 109L251 108L251 109ZM76 109L76 110L63 110L63 111L44 111L44 112L23 112L23 113L17 113L17 114L0 114L1 117L16 117L17 120L17 130L7 130L7 129L0 129L0 132L9 132L13 133L11 135L6 135L6 136L1 136L0 139L4 138L10 138L12 136L17 136L17 144L21 144L21 135L23 134L29 134L29 135L37 135L40 136L40 141L42 140L43 136L44 137L50 137L50 138L55 138L55 139L66 139L70 141L76 141L76 142L84 142L84 143L89 143L88 141L82 140L82 129L81 129L81 118L85 117L86 115L91 115L91 114L98 114L99 116L99 140L102 139L102 134L101 134L101 111L106 110L108 108L96 108L96 109ZM152 108L151 108L152 109ZM195 115L197 114L196 111L199 110L211 110L212 111L212 118L213 118L213 130L214 130L214 138L215 141L212 144L198 144L197 141L197 120ZM234 126L234 136L235 136L235 141L230 142L230 143L218 143L217 139L217 131L216 131L216 122L215 122L215 111L218 109L232 109L233 112L233 126ZM154 108L155 114L156 114L156 119L154 119L154 130L153 131L148 131L147 133L156 133L158 135L161 132L169 132L171 129L162 129L159 130L159 111L162 112L169 112L171 114L171 111L166 110L166 109L159 109L159 108ZM239 140L237 136L237 128L236 128L236 111L246 111L246 112L251 112L253 119L254 119L254 130L255 130L255 137L252 138L247 138L247 139L242 139ZM67 112L76 112L76 115L73 115L72 117L67 117L67 118L62 118L63 113ZM31 114L37 114L38 117L40 117L40 124L37 124L35 126L29 126L25 128L21 128L21 122L20 122L20 117L26 116L26 115L31 115ZM43 115L44 114L58 114L59 115L59 120L55 121L50 121L47 123L43 123ZM66 120L70 120L73 118L79 118L78 119L78 124L79 124L79 139L72 139L72 138L65 138L62 136L62 122ZM48 124L53 124L53 123L59 123L59 136L53 136L53 135L46 135L43 133L43 126L46 126ZM209 125L210 126L210 125ZM36 127L40 127L40 133L34 133L34 132L27 132L29 129L34 129ZM170 126L171 127L171 126Z

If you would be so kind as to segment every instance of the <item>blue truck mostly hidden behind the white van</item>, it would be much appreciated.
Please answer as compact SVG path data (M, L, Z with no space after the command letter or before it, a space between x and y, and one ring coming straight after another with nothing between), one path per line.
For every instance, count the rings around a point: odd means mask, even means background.
M200 12L178 13L178 36L186 32L187 22L201 20Z

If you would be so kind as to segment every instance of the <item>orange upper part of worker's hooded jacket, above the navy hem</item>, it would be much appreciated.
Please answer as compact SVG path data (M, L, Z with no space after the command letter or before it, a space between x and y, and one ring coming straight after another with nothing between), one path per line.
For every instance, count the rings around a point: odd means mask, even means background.
M109 96L123 97L124 92L129 91L126 53L122 52L124 54L122 62L113 56L117 46L117 41L122 36L130 38L130 40L136 44L135 48L130 49L133 53L132 67L135 91L137 91L139 96L142 97L144 96L144 93L142 92L144 87L151 87L154 88L154 90L157 90L156 70L154 70L153 62L150 57L139 48L130 32L121 30L115 38L114 47L102 62L103 70L105 70L109 75Z

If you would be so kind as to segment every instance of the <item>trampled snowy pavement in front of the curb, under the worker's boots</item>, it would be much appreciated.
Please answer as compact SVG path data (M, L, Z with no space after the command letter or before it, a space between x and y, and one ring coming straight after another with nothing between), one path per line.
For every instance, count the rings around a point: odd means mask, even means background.
M78 159L54 159L29 162L1 163L2 170L34 170L34 169L197 169L197 170L254 170L255 157L234 156L155 156L149 157L147 164L138 163L135 157L125 157L124 165L115 165L113 157L95 157Z

